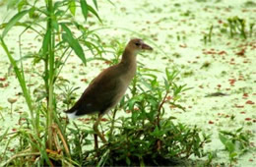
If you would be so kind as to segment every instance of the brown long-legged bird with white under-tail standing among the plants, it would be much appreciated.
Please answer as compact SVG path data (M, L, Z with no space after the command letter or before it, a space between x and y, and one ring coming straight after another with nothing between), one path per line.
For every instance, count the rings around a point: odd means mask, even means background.
M98 113L94 130L103 142L106 142L106 139L97 129L99 121L124 95L136 74L136 55L141 50L153 50L153 48L144 43L142 39L131 39L125 47L120 63L102 71L90 83L75 105L65 111L69 118Z

